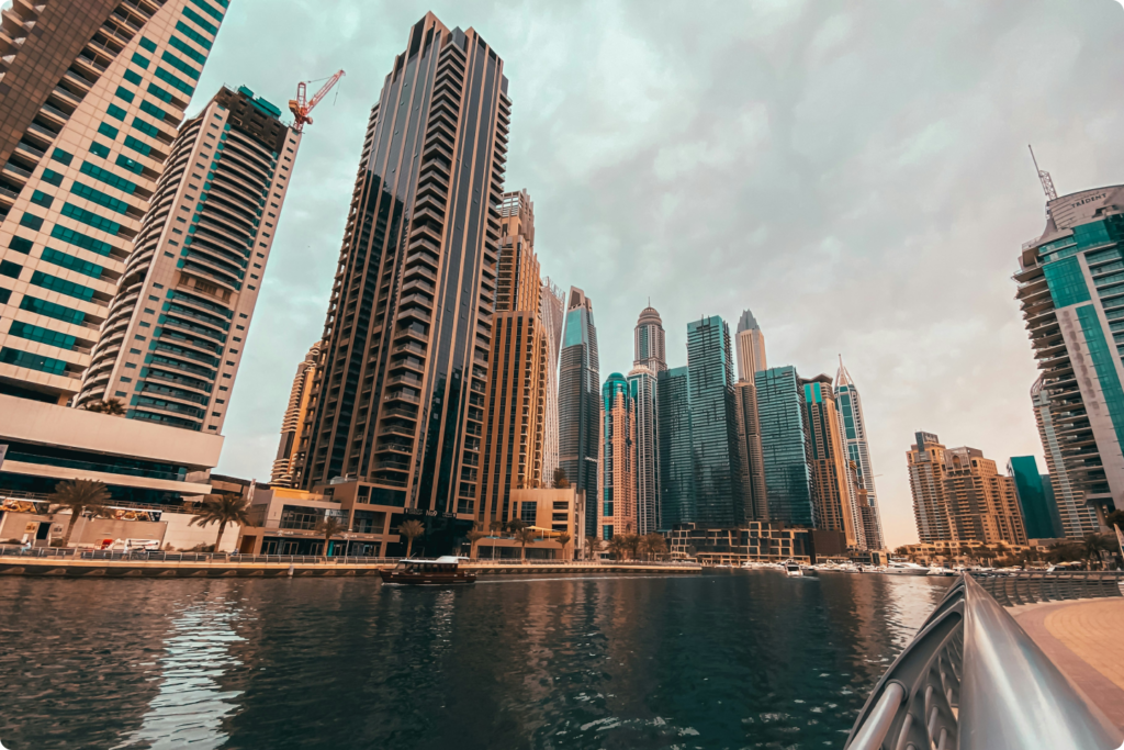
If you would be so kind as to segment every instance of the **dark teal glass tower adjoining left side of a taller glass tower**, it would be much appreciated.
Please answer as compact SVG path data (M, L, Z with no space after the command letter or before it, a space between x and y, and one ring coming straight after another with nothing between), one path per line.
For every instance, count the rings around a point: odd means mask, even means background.
M660 531L697 519L689 380L687 368L671 368L656 376Z

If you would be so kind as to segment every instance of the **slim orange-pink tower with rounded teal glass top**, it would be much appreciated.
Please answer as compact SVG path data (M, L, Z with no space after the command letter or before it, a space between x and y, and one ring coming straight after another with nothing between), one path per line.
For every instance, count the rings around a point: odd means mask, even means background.
M597 537L635 534L636 404L628 381L614 372L601 388L601 445L598 479Z

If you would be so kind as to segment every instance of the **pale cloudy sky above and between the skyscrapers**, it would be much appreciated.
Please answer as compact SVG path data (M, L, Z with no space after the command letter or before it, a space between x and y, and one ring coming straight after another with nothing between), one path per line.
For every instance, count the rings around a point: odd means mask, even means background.
M1045 224L1027 144L1060 195L1124 181L1117 0L233 0L193 109L346 76L305 129L220 473L269 479L369 110L427 10L505 61L506 189L535 202L543 274L592 299L602 380L649 298L671 367L689 320L733 332L745 308L771 367L834 376L842 354L891 546L917 537L917 431L1045 471L1010 278Z

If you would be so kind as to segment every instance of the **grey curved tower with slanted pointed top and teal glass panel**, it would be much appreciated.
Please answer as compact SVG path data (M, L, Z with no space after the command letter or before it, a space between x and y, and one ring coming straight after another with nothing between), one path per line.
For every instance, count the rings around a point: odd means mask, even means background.
M559 364L559 467L587 498L597 497L600 383L593 302L570 287ZM597 503L586 503L586 535L597 533Z

